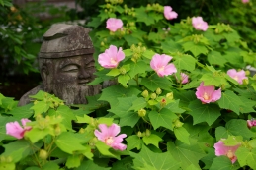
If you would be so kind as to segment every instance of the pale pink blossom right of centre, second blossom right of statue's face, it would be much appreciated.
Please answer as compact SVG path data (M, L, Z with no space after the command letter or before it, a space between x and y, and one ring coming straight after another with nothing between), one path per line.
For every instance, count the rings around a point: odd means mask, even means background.
M168 64L172 57L165 54L155 54L150 62L151 68L157 73L159 77L172 75L177 72L174 64Z

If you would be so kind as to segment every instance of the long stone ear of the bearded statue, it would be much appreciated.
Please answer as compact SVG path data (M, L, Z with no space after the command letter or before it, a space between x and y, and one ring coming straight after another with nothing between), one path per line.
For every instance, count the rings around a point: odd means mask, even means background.
M45 92L51 92L52 88L51 88L51 75L49 72L49 67L47 66L47 64L43 63L42 68L41 68L41 77L43 80L43 88Z

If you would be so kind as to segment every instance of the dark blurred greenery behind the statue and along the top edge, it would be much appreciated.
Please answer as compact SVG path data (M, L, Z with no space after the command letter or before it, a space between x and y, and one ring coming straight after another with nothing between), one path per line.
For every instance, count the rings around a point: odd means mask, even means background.
M16 99L40 83L37 54L42 43L43 33L55 23L79 23L87 28L93 18L99 14L100 6L109 0L74 0L82 10L55 7L46 4L46 0L37 3L26 3L23 6L13 4L11 0L0 0L0 92ZM169 21L178 23L188 16L202 16L209 24L230 24L256 51L256 0L243 4L241 0L117 0L128 7L147 6L158 3L169 5L178 13L178 18ZM47 13L50 18L42 18ZM97 28L106 28L105 22ZM23 85L20 85L23 82ZM15 82L15 85L12 85ZM12 93L6 87L14 90ZM18 90L19 89L19 90ZM15 93L15 94L14 94Z

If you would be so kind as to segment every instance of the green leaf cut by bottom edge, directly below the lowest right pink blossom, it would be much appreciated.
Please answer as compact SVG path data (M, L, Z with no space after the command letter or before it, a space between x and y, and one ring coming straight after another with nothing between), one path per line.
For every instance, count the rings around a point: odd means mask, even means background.
M231 160L226 156L219 156L213 159L213 164L209 170L236 170L240 166L235 163L232 164Z

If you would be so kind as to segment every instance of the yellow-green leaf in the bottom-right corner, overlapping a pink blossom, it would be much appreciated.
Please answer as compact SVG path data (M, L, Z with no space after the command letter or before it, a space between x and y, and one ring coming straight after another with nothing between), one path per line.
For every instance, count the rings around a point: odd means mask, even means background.
M239 147L235 155L240 166L250 166L252 169L256 167L256 148L249 149L246 147Z

